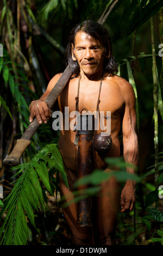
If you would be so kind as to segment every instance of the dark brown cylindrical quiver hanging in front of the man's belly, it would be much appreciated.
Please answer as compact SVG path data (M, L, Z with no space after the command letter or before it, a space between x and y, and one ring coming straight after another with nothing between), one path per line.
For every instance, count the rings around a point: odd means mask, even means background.
M80 114L77 117L77 139L78 139L78 179L93 171L93 133L94 115ZM79 196L83 199L77 203L77 225L78 227L89 227L92 225L92 198L86 197L86 188L90 185L79 185Z

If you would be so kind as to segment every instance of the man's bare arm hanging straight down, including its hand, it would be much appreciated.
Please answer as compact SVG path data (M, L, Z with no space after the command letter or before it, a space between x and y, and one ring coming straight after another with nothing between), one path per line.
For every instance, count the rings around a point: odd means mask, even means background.
M136 127L135 94L128 82L124 90L125 107L122 121L123 157L126 163L137 166L138 142ZM134 174L134 168L127 167L127 172ZM127 180L121 192L121 212L133 210L135 203L135 180Z

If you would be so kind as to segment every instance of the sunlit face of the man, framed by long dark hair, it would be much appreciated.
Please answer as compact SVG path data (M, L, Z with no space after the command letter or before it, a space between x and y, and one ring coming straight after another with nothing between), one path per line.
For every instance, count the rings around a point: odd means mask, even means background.
M105 57L107 58L102 42L82 31L76 34L74 46L72 45L72 59L77 60L80 72L87 76L98 72L101 74Z

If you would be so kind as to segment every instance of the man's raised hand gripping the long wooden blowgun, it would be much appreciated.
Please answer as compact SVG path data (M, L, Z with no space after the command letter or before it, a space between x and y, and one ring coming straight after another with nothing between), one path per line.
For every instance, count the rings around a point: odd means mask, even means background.
M48 104L42 100L34 100L29 106L29 121L32 123L33 118L37 118L39 124L47 123L47 120L52 117L52 111L48 107Z

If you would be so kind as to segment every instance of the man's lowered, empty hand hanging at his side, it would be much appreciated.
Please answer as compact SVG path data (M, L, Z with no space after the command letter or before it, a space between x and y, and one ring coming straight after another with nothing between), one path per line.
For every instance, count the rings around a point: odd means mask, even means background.
M121 193L121 212L128 212L134 209L135 184L127 182Z

